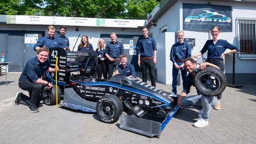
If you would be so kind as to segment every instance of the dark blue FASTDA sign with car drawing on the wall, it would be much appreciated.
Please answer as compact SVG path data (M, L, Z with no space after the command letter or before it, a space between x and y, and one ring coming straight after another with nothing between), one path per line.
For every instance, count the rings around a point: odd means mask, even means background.
M221 31L232 31L231 6L183 3L184 30L210 30L213 26Z

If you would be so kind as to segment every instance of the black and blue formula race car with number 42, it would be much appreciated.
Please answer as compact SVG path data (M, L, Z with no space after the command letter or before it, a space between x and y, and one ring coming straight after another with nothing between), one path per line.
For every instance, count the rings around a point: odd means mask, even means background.
M179 109L175 102L177 98L170 97L169 92L135 77L116 75L110 79L97 78L98 55L93 50L66 52L63 49L50 49L51 67L55 67L57 57L60 70L57 75L47 72L47 78L52 83L58 79L59 97L57 100L55 86L52 89L45 87L42 95L46 105L59 102L62 91L63 102L60 106L97 113L104 123L115 123L120 119L121 129L148 137L159 137ZM216 78L210 79L216 83ZM205 81L205 77L202 81ZM203 86L207 92L214 91L221 83L209 85L210 82ZM122 115L123 111L126 114Z

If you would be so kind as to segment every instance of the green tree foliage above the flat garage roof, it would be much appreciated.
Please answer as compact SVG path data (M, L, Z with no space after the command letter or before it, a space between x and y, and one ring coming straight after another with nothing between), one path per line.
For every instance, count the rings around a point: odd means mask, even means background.
M146 19L159 0L0 0L0 14Z

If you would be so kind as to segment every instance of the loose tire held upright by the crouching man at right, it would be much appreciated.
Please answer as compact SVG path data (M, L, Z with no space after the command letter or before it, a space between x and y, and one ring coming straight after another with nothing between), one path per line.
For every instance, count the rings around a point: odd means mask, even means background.
M218 68L206 67L195 74L196 89L206 96L215 96L222 93L227 84L225 74Z

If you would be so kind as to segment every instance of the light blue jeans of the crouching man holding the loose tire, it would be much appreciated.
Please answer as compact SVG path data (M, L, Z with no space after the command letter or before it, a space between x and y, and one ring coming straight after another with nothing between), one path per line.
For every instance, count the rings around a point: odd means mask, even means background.
M202 118L205 121L209 120L211 107L215 107L217 105L216 97L206 97L205 95L191 95L182 99L182 107L189 106L202 106L203 115Z

